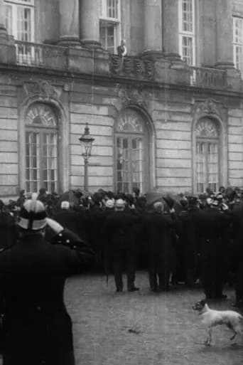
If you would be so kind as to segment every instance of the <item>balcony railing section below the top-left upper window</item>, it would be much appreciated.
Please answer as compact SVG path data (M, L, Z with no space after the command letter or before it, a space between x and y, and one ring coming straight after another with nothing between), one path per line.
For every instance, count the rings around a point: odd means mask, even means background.
M68 68L68 48L16 41L18 65L41 68Z

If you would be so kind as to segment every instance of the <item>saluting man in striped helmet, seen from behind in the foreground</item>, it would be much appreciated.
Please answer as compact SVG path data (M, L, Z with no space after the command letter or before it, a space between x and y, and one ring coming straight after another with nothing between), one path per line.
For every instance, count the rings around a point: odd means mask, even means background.
M47 222L53 243L44 237ZM72 322L63 302L65 278L88 268L93 253L76 235L45 218L41 201L24 203L18 227L18 242L0 253L4 365L74 365Z

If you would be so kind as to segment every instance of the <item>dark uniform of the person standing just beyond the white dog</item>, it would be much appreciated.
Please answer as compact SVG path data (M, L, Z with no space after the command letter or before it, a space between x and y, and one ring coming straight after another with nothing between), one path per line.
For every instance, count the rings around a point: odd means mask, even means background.
M207 298L222 299L225 280L225 229L229 217L217 208L208 207L195 220L200 238L201 280Z

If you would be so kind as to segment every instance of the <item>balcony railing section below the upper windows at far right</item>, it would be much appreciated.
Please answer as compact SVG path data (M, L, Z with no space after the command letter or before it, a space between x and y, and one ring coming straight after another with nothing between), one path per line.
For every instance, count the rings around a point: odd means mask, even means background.
M227 73L216 68L190 67L190 85L202 88L227 88Z

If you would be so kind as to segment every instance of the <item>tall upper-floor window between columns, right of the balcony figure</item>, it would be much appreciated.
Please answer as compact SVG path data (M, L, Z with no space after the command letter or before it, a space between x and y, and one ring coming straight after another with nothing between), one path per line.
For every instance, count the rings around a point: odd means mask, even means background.
M179 0L179 48L188 65L195 65L195 0Z

